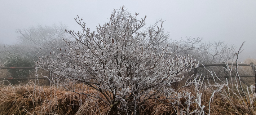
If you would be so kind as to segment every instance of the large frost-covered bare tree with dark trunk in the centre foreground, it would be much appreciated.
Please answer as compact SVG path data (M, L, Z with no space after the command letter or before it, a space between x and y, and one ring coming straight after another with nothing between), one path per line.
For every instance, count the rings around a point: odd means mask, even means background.
M109 22L91 32L77 17L83 31L66 30L75 41L65 40L68 48L41 56L37 67L50 71L52 82L67 90L105 102L110 115L138 114L149 99L175 105L175 98L187 93L176 93L171 84L198 62L189 56L171 57L163 22L142 30L145 19L115 9Z

